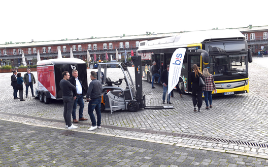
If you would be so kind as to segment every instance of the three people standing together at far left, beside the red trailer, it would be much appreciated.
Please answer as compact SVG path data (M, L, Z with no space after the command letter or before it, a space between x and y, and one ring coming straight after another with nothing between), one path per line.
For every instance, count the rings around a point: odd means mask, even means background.
M35 76L30 72L30 69L27 68L27 73L24 74L24 76L21 76L21 73L16 70L13 71L13 74L11 75L11 86L13 87L13 96L14 99L20 99L20 101L25 101L23 98L23 83L26 86L25 90L25 98L28 97L28 89L30 87L31 89L31 95L32 97L35 97L35 94L33 93L33 84L36 84ZM19 91L19 97L17 96Z

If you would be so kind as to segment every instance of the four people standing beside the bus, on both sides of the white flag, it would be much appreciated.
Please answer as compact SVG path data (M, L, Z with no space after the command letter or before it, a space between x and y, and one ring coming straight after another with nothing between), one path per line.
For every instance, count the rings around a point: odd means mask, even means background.
M158 69L156 67L156 62L152 63L151 67L151 73L152 73L152 89L154 89L154 79L155 77L158 77L158 84L160 81L163 84L163 95L162 100L163 104L165 103L165 96L166 92L168 91L168 85L169 85L169 70L170 65L166 67L166 69L161 73L161 75L158 74ZM206 84L205 87L199 86L199 77L202 78ZM206 109L212 108L212 92L217 92L217 89L215 87L214 78L213 75L209 73L208 68L204 68L203 73L200 72L199 68L196 64L193 65L193 72L190 73L190 82L192 82L192 102L194 109L193 111L200 112L200 108L202 107L203 99L202 95L204 92L205 96L205 102L206 102ZM182 92L178 88L177 89L180 96L182 97ZM173 97L173 91L168 94L167 103L172 104L170 102L171 97ZM197 108L196 108L197 105Z

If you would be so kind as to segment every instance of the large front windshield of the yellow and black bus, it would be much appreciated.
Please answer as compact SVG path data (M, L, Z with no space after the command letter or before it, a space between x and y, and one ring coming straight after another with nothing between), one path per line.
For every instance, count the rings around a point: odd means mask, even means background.
M216 43L208 44L210 62L205 65L209 72L219 75L243 75L248 73L248 55L246 44L239 43Z

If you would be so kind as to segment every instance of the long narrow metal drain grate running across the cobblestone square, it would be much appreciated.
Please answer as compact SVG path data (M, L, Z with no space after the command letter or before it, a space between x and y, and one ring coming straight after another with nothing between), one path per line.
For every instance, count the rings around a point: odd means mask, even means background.
M24 118L31 118L31 119L37 119L37 120L43 120L43 121L51 121L51 122L62 122L64 123L64 120L56 120L56 119L48 119L48 118L40 118L36 116L28 116L28 115L21 115L21 114L12 114L12 113L5 113L0 112L0 114L3 115L13 115L18 117L24 117ZM89 123L79 122L76 124L81 124L85 126L89 126ZM103 128L110 128L115 130L123 130L123 131L132 131L132 132L142 132L142 133L150 133L150 134L157 134L157 135L165 135L165 136L176 136L181 138L189 138L189 139L197 139L197 140L207 140L207 141L214 141L214 142L222 142L222 143L231 143L231 144L241 144L241 145L247 145L247 146L255 146L255 147L262 147L262 148L268 148L268 144L261 144L261 143L253 143L253 142L246 142L246 141L238 141L238 140L230 140L230 139L220 139L220 138L214 138L214 137L206 137L206 136L198 136L198 135L187 135L187 134L178 134L178 133L172 133L172 132L162 132L162 131L155 131L155 130L146 130L146 129L138 129L138 128L125 128L125 127L116 127L116 126L105 126L102 125ZM64 133L60 133L61 135L71 135L69 132L73 131L66 131ZM66 134L65 134L66 133Z

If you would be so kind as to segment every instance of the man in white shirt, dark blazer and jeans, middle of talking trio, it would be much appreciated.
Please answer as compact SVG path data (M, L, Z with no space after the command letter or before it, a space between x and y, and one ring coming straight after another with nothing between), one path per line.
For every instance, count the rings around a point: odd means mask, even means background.
M76 107L77 104L79 105L79 120L87 120L86 118L83 117L83 111L84 111L84 96L86 95L87 88L84 87L82 84L81 79L78 77L78 71L76 69L73 70L72 72L72 77L70 78L70 82L73 86L76 87L76 90L73 90L73 94L76 97L76 100L74 102L73 106L73 122L77 123L78 120L76 119Z

